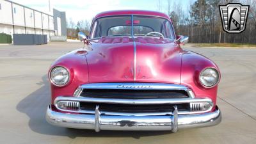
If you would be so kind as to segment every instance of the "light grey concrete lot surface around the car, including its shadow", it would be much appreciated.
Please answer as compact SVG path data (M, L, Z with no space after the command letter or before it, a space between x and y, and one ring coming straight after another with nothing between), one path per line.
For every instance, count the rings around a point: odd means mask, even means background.
M45 121L50 102L47 70L82 43L0 45L0 143L256 143L256 49L186 49L204 54L222 72L214 127L171 132L94 131L54 127Z

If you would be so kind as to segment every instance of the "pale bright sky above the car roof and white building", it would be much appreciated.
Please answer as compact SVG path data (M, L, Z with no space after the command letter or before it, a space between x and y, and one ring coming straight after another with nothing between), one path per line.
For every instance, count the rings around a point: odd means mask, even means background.
M11 0L13 2L40 10L49 12L49 0ZM195 0L170 0L171 3L182 5L185 12L188 12L189 4ZM51 8L66 12L68 20L70 18L77 22L78 20L91 21L97 13L108 10L153 10L167 12L167 0L50 0Z

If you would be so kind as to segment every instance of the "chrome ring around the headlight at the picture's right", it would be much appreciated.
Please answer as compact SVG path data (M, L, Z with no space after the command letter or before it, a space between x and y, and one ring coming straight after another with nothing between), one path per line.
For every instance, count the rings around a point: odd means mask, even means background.
M202 74L204 74L204 72L206 70L212 70L212 72L214 71L215 74L216 74L216 81L212 84L206 84L204 81L202 81ZM200 74L199 74L199 77L198 77L199 81L200 81L200 84L202 86L204 86L205 88L213 88L214 86L216 86L219 81L220 81L220 72L216 69L216 68L212 68L212 67L207 67L207 68L204 68Z

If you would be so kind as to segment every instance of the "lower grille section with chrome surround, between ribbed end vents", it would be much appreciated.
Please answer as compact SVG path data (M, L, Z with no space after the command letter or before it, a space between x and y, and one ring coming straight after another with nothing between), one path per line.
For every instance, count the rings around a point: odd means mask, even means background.
M77 102L72 109L63 109L62 102ZM202 110L203 104L211 104L209 108ZM205 113L211 111L212 101L208 98L186 98L186 99L100 99L88 97L57 97L54 106L61 111L90 113L93 114L95 106L100 106L101 111L107 115L170 115L173 106L179 109L179 115L191 113ZM66 105L68 106L68 104ZM69 104L70 106L70 104ZM207 105L204 105L207 106ZM206 107L204 107L206 108Z

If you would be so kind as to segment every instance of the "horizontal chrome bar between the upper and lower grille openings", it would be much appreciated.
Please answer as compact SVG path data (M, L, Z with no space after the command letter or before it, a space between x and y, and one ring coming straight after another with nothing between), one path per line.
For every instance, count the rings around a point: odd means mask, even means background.
M104 103L104 104L183 104L189 102L209 102L212 104L212 100L209 98L204 99L103 99L103 98L92 98L92 97L56 97L54 100L54 105L58 101L77 101L77 102L95 102L95 103Z

